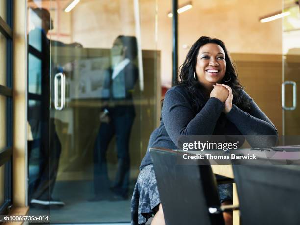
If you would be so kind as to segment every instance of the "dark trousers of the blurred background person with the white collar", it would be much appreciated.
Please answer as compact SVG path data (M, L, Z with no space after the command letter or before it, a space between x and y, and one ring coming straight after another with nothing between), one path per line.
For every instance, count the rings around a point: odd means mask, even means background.
M110 122L101 123L94 146L94 188L96 199L109 198L109 189L115 195L128 198L130 155L129 139L134 115L116 115L110 111ZM113 135L116 135L118 166L115 181L110 187L107 173L106 151Z

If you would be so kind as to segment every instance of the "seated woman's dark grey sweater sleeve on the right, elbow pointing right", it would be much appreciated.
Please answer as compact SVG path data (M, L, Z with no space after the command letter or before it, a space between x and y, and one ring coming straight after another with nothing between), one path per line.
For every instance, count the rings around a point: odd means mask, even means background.
M236 105L233 105L230 112L226 115L227 118L234 123L234 125L239 129L239 131L242 133L242 135L252 135L252 136L262 136L262 135L269 135L269 136L275 136L277 138L278 131L274 124L271 122L271 120L265 115L264 112L259 109L257 104L254 102L254 100L245 92L242 92L243 98L250 101L250 112L244 112L240 108L238 108ZM258 138L258 137L257 137ZM257 143L257 138L254 138ZM249 138L246 138L251 146L253 146L254 142L253 140L249 140ZM274 139L274 138L273 138ZM260 142L264 142L261 139ZM272 144L274 144L274 140L272 141ZM266 146L264 146L266 147Z

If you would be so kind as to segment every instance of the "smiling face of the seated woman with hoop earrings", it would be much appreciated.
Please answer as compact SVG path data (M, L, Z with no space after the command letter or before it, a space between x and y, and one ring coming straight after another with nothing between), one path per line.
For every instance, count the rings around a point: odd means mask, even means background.
M226 72L225 52L220 45L208 43L199 48L196 74L199 82L208 89L221 83Z

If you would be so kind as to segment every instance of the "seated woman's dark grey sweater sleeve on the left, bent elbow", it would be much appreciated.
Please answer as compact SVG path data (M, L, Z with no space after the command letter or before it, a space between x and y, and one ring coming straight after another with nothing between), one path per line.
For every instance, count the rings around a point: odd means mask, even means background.
M210 98L195 115L191 104L178 90L169 90L164 99L162 119L168 135L178 146L181 135L212 135L224 109L217 98Z

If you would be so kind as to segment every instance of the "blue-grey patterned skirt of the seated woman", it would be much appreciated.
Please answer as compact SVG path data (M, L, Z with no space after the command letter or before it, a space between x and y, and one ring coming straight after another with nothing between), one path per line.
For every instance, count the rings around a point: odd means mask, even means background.
M217 175L218 176L218 175ZM220 202L232 200L232 184L218 185ZM131 225L145 225L160 204L153 164L145 166L137 179L131 199Z

